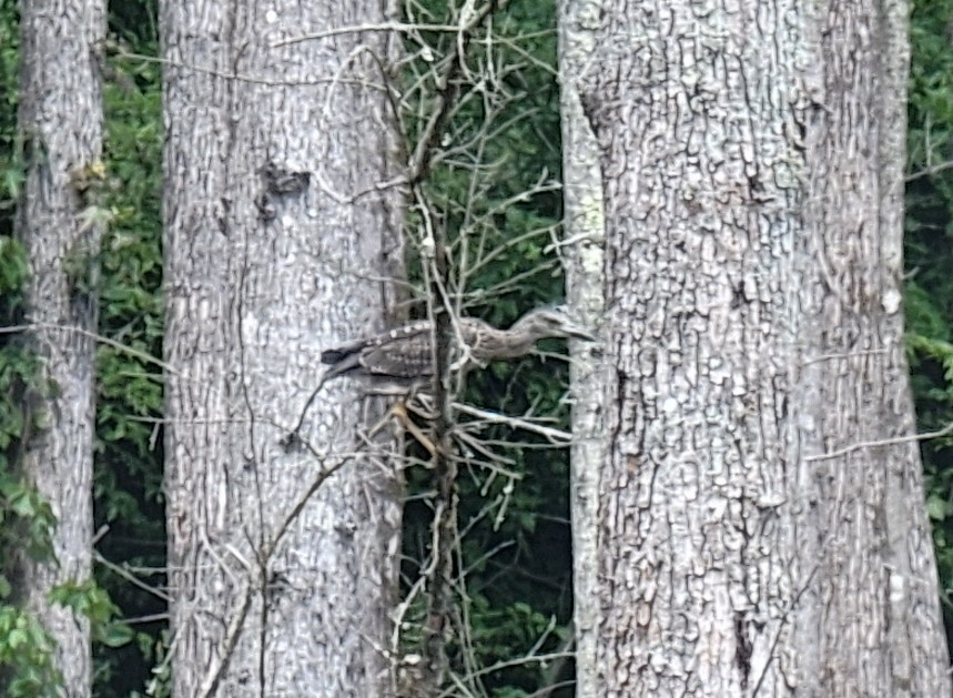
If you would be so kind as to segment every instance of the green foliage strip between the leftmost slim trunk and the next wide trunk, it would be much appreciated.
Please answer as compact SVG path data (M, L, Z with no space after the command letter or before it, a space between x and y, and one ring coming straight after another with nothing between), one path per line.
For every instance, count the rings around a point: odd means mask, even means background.
M154 2L112 8L111 29L131 52L154 55ZM163 649L165 604L130 584L164 584L165 517L162 499L161 236L162 128L160 67L153 61L112 60L104 85L105 183L101 206L109 229L99 251L100 332L122 348L97 351L95 525L108 527L99 544L111 564L97 579L123 617L152 620L128 626L109 621L97 637L97 696L142 691ZM148 570L155 571L148 571ZM134 643L126 643L134 639ZM161 686L161 682L156 686ZM151 695L162 695L156 688Z

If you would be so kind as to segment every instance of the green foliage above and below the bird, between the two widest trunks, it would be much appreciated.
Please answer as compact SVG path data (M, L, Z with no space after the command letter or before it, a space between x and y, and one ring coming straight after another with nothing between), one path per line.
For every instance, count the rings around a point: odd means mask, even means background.
M454 23L448 6L444 0L415 3L413 17ZM499 326L531 307L557 303L564 294L550 244L561 219L555 18L551 1L515 0L494 14L493 41L469 44L456 108L424 184L435 224L446 231L452 294L462 299L465 314ZM454 34L420 36L430 50L409 71L408 87L426 84L420 77L440 64L439 57L457 50ZM408 40L407 49L417 52L420 45ZM413 142L427 123L433 89L410 94L423 105L405 123ZM414 277L419 272L412 262ZM559 342L541 348L566 353ZM501 414L551 418L552 426L567 428L567 383L565 361L499 362L470 374L465 401ZM525 656L544 633L543 651L555 649L571 618L568 454L503 425L481 437L511 459L519 479L494 475L479 457L457 479L465 532L459 565L467 570L466 596L459 603L467 605L469 645L452 648L450 661L464 676L474 666L464 656L477 668L509 662ZM426 473L408 475L413 492L430 489ZM408 560L424 559L430 519L425 500L412 498L405 515ZM406 571L407 578L416 578L413 565ZM480 682L491 695L517 696L548 680L538 662L527 661L500 668Z

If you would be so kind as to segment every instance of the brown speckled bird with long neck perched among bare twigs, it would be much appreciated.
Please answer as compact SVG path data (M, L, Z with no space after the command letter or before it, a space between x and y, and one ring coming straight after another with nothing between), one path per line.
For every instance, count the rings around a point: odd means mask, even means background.
M452 334L458 335L466 345L462 347L464 356L478 365L525 356L539 340L549 337L596 342L596 337L575 322L564 306L531 310L509 330L499 330L478 317L459 317L455 327L452 326ZM341 376L358 377L369 392L378 394L407 395L426 391L434 377L433 341L434 323L422 320L323 351L321 363L327 370L305 403L297 426L284 443L296 438L305 414L328 381ZM416 432L414 436L419 441Z

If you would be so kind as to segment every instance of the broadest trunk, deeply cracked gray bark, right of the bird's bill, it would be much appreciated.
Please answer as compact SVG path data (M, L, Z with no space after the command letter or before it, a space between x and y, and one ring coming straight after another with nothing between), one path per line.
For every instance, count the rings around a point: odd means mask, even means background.
M610 453L580 672L949 696L902 343L905 4L600 4Z

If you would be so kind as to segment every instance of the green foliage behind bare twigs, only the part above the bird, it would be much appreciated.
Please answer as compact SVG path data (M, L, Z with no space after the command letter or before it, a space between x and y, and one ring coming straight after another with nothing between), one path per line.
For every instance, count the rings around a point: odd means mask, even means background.
M444 0L423 3L422 21L456 21ZM452 290L470 313L506 324L562 295L558 260L549 247L561 216L558 184L559 89L555 4L517 0L494 14L495 40L473 41L458 103L446 127L425 191L437 209L453 254ZM446 32L422 32L428 55L457 50ZM408 41L409 51L419 51ZM420 60L407 88L432 70ZM489 78L493 75L493 78ZM426 84L426 80L424 80ZM434 85L416 95L423 109L405 120L416 142ZM417 115L422 114L422 115Z

